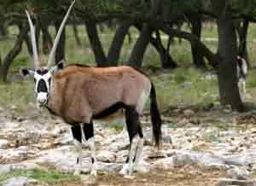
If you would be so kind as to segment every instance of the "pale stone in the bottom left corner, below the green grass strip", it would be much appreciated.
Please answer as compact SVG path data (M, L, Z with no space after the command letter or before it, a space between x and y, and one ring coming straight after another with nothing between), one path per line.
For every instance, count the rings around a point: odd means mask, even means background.
M32 186L38 183L37 180L27 177L12 177L2 183L3 186Z

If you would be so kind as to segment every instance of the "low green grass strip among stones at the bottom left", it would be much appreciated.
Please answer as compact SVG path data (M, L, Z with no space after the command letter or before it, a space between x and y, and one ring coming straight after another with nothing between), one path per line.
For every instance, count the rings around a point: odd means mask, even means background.
M79 180L79 177L75 177L73 176L73 174L70 173L61 173L58 171L43 171L36 169L32 171L17 170L11 173L0 174L0 183L11 177L33 178L38 180L38 182L40 183L48 183L50 185Z

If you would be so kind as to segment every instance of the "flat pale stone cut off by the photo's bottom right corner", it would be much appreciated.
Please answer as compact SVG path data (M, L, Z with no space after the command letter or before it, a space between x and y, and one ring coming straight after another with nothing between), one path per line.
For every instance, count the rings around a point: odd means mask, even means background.
M256 186L255 180L237 180L230 178L219 178L218 186L228 186L228 185L237 185L237 186Z

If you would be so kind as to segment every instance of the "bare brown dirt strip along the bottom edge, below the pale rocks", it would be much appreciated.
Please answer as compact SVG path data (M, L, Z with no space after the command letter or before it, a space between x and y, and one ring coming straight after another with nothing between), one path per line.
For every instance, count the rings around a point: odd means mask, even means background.
M225 177L224 171L184 166L169 171L152 170L147 174L137 174L132 179L104 173L98 175L92 183L82 178L76 183L61 183L58 186L213 186L220 177Z

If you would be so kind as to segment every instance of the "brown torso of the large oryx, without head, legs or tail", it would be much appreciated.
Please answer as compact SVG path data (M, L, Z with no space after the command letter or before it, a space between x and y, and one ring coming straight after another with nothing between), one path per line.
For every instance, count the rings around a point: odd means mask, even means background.
M150 89L148 77L132 67L73 65L55 74L47 107L68 124L90 123L119 102L141 113Z

